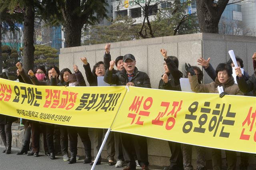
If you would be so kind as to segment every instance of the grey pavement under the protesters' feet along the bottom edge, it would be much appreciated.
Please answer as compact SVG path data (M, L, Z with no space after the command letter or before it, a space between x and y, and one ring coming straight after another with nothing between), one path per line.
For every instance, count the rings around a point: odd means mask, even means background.
M39 154L39 157L16 155L19 151L16 148L12 148L12 154L2 153L4 148L0 146L0 170L90 170L92 166L90 164L83 164L83 159L78 160L75 164L68 164L61 156L56 156L55 160L51 160L49 156L45 156L43 153ZM122 170L123 168L116 168L115 166L109 166L108 162L102 162L100 165L96 165L94 170ZM140 167L137 167L140 170ZM162 170L150 166L150 170Z

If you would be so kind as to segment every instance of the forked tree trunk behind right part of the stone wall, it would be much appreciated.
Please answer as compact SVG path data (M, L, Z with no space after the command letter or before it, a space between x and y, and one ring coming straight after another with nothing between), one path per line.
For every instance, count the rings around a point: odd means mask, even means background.
M219 33L218 24L220 21L219 10L213 10L212 13L214 15L210 15L209 10L206 8L204 0L197 0L196 1L196 10L198 16L198 23L200 27L200 31L203 33Z

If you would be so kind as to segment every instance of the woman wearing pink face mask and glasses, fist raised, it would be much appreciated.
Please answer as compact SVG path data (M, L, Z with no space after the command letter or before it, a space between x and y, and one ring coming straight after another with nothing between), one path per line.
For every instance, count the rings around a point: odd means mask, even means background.
M35 72L35 74L34 74ZM46 80L46 70L43 66L37 67L34 72L32 70L28 71L28 75L30 75L30 80L34 85L41 85L41 86L50 86L50 80ZM55 159L54 154L54 143L53 143L53 134L54 134L54 125L43 123L46 127L46 142L48 146L48 152L50 153L50 159ZM34 136L35 139L39 138L40 133L39 132L40 124L32 124L32 138ZM34 131L34 133L33 133ZM32 142L33 144L33 142ZM34 146L32 146L34 156L38 156L39 152L39 141L34 141Z

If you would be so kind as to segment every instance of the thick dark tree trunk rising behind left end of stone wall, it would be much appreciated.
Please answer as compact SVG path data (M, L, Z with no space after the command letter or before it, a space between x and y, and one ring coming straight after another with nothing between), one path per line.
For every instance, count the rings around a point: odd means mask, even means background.
M70 18L70 20L68 20L68 22L65 24L66 47L81 46L81 33L83 25L80 23L80 20Z

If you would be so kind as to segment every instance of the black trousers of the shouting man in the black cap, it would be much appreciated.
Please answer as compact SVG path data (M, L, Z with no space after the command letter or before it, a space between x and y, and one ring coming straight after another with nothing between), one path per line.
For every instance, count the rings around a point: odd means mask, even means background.
M144 136L121 133L124 160L127 166L132 169L136 168L134 153L140 166L148 166L148 144Z

